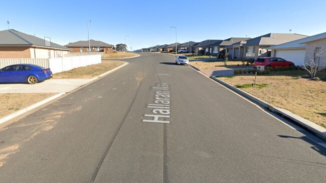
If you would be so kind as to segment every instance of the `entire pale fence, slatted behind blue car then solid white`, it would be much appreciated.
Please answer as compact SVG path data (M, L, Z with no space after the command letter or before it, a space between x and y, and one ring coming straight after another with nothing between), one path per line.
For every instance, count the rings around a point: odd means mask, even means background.
M71 70L76 67L101 63L101 55L69 56L60 58L0 58L0 68L18 63L30 63L51 68L53 73Z

